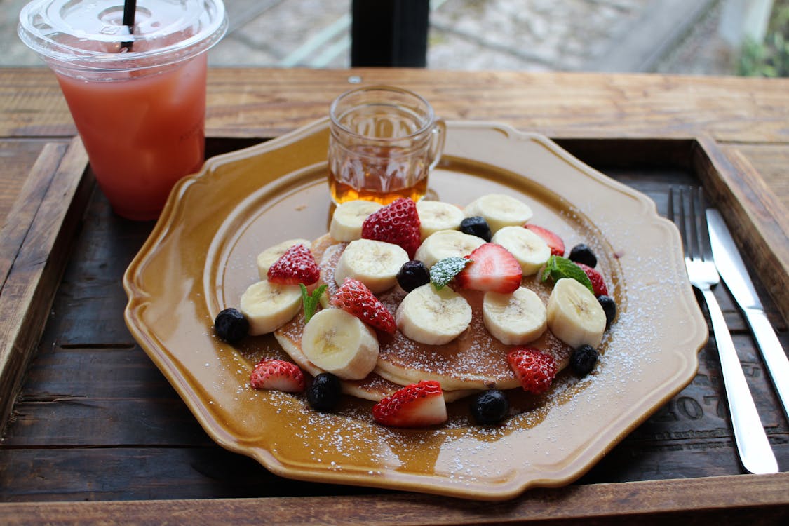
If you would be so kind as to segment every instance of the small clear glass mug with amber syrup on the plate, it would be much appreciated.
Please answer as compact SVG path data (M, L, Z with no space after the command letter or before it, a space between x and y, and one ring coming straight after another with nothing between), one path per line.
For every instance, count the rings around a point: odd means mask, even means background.
M350 200L421 200L446 127L420 95L393 86L347 91L329 109L329 192Z

